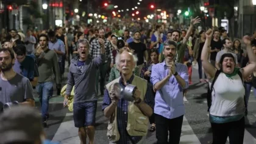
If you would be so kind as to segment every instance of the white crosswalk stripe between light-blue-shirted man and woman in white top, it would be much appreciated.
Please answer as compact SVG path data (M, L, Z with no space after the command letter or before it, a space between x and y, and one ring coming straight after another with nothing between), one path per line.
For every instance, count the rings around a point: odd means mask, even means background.
M185 116L183 117L182 134L180 135L180 144L182 143L201 143L196 134L194 134L193 129Z

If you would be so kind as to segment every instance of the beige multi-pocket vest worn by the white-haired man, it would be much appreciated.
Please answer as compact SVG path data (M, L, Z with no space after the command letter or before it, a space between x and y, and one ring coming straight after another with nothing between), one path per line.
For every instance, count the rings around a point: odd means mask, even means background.
M111 81L106 85L109 95L112 90L113 84L119 83L120 78L121 77L116 78L115 80ZM148 81L134 75L134 78L132 80L132 85L137 86L137 88L141 91L140 98L141 100L144 100L144 96L147 91ZM116 112L117 112L117 108L115 112L112 114L112 116L110 117L110 121L108 122L108 126L107 126L107 136L111 142L116 142L120 138L120 135L118 132L118 124L116 120ZM147 132L148 132L148 124L149 124L149 118L146 115L144 115L140 111L140 109L133 104L132 101L129 101L128 120L127 120L127 127L126 127L128 134L130 136L145 136L147 135Z

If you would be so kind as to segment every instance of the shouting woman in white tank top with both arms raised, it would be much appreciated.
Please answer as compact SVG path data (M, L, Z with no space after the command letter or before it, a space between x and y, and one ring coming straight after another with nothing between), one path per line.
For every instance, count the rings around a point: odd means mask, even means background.
M216 75L209 110L213 144L225 144L227 137L230 144L243 144L245 111L243 79L256 69L256 55L251 49L251 39L249 36L244 36L243 40L251 63L239 69L235 67L236 60L233 55L224 53L219 62L221 69L217 70L208 61L208 46L210 46L212 32L210 29L205 33L207 39L202 49L201 60L208 78L213 80ZM231 41L224 39L222 44L224 47L229 47Z

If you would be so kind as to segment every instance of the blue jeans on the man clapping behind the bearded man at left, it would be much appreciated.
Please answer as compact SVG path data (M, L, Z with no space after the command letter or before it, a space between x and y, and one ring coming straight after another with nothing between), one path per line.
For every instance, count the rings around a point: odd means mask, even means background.
M46 117L48 115L49 99L50 97L52 97L53 93L53 82L48 81L45 83L38 83L36 89L41 104L42 118L43 120L46 120Z

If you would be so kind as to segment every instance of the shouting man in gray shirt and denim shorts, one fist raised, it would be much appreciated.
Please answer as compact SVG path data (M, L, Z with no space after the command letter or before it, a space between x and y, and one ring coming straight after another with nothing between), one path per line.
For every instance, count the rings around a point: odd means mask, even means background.
M71 90L75 89L73 114L74 125L79 128L78 134L81 143L86 143L88 135L89 143L94 144L94 124L97 109L96 72L105 61L105 41L99 39L101 54L91 58L89 55L89 42L79 39L77 42L79 56L71 60L68 73L68 83L64 106L68 106L68 97Z

